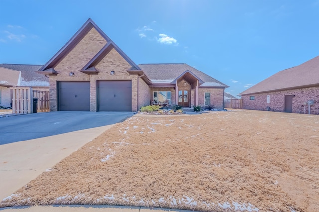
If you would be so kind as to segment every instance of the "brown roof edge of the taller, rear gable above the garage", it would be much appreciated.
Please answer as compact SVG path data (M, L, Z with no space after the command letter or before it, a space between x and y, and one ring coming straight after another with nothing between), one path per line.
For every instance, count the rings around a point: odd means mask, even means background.
M72 36L72 38L46 63L39 71L53 68L87 35L92 29L95 30L107 41L111 39L89 18L83 26Z

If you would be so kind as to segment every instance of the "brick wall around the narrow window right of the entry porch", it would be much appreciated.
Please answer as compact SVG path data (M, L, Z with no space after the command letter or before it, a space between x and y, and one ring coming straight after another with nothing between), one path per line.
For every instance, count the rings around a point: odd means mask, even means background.
M210 105L214 109L223 110L224 107L224 89L223 88L201 88L198 89L198 105L205 109L205 92L210 92Z

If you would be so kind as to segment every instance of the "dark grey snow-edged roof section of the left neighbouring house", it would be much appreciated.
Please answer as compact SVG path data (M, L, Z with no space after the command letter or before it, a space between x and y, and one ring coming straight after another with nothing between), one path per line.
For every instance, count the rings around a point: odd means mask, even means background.
M0 67L21 72L21 80L18 86L26 86L26 87L49 87L50 86L49 78L37 72L42 67L42 65L0 64Z

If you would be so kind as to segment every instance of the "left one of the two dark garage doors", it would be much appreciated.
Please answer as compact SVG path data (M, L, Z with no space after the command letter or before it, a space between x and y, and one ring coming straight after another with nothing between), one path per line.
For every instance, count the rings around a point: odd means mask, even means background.
M89 111L90 82L58 82L59 111Z

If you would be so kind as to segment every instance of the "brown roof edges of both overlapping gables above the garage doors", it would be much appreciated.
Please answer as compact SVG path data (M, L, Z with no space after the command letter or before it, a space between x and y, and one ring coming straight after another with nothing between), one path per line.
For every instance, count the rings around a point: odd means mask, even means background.
M39 72L45 71L50 68L54 68L72 49L85 37L85 35L94 28L100 35L107 41L105 47L98 52L98 54L83 68L86 70L92 66L92 63L99 62L101 57L105 56L110 50L106 50L107 47L112 45L116 51L134 68L139 69L139 67L89 18L83 26L72 36L72 38L46 63L39 69ZM105 54L106 53L106 54ZM56 72L53 70L49 71L52 73Z

